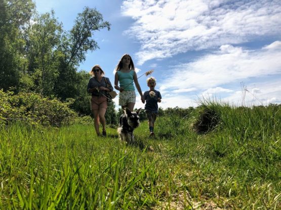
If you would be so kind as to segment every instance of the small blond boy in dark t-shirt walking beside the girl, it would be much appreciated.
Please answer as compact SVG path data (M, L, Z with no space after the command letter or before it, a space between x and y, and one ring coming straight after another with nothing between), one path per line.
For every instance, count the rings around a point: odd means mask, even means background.
M161 94L159 91L155 90L154 87L156 85L156 79L154 77L149 77L147 80L147 86L149 87L149 91L145 91L143 94L142 102L145 103L145 113L148 119L148 126L150 131L150 136L154 135L153 128L154 122L156 120L158 114L158 104L157 102L161 102Z

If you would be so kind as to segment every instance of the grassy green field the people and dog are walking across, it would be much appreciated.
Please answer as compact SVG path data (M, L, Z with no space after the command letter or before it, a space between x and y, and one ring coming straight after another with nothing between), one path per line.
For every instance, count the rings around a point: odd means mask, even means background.
M209 122L207 122L209 119ZM115 128L0 130L0 209L281 209L281 107L206 104ZM207 128L207 129L206 129Z

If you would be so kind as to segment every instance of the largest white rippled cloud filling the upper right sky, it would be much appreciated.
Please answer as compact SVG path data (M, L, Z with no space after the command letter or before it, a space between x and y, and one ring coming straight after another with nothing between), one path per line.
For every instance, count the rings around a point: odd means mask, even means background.
M139 65L281 31L280 1L127 0L122 11L135 20L126 34L141 43Z

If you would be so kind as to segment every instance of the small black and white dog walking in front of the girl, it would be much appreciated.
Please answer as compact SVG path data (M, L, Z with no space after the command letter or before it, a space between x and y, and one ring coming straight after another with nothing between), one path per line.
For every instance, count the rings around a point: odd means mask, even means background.
M132 143L134 141L133 131L136 127L140 125L139 113L141 108L136 112L131 112L128 108L124 110L124 114L119 118L119 128L117 132L121 140L126 141L127 143Z

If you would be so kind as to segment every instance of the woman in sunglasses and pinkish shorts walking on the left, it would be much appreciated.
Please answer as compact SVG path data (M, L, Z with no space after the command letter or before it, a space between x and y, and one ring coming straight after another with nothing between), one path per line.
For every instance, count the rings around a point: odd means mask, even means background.
M97 135L100 136L99 122L101 122L102 136L106 136L104 117L107 109L106 92L112 91L113 87L109 79L104 77L104 72L99 65L95 65L90 74L93 75L93 77L89 80L87 90L92 93L91 111L94 115L95 130Z

